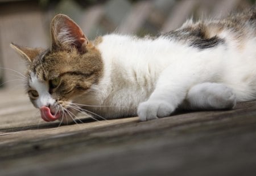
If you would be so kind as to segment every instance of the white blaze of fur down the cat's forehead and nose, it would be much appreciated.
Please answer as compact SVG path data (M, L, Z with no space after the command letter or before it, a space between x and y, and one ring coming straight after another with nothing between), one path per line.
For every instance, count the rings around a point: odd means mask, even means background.
M49 106L55 103L55 100L49 94L49 86L46 81L40 81L34 73L31 73L30 87L38 91L39 97L36 99L36 106Z

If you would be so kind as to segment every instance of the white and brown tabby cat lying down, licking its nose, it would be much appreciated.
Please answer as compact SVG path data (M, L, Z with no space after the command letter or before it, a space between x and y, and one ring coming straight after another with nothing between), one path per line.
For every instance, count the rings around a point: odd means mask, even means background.
M44 121L168 117L177 109L232 109L256 98L255 7L226 19L188 20L155 37L89 41L58 14L48 49L11 46L27 62L26 89Z

